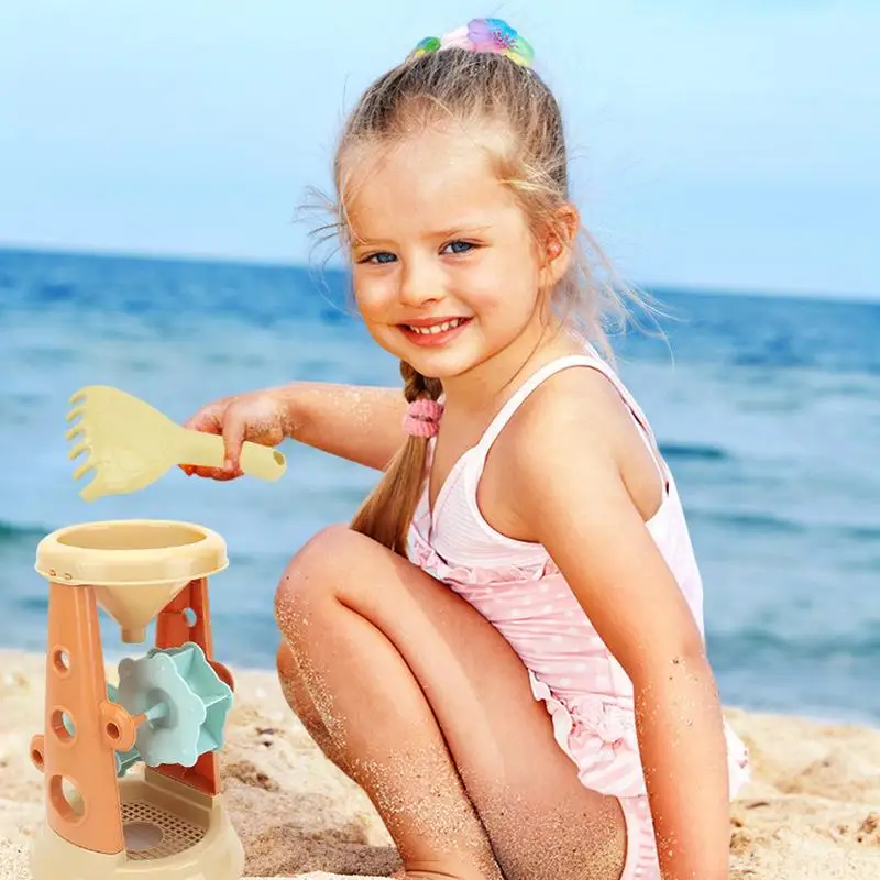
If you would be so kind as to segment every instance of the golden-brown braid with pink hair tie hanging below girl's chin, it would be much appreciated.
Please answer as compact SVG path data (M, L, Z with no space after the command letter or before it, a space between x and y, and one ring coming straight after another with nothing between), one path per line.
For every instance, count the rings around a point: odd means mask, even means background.
M443 386L439 378L428 378L417 373L406 361L400 361L404 377L404 396L407 403L437 400ZM360 531L402 557L407 556L407 535L425 488L425 463L428 439L408 436L385 471L378 485L354 515L351 528Z

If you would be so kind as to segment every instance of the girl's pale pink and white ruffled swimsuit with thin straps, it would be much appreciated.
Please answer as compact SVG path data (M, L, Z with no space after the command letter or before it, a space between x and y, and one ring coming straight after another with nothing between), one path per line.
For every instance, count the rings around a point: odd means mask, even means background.
M547 706L557 743L576 765L581 782L619 799L628 837L620 880L659 880L632 683L543 547L495 531L476 503L486 455L504 426L541 382L573 366L597 370L612 382L658 462L667 492L646 527L704 632L703 586L675 482L638 404L595 351L553 361L517 388L480 442L455 462L433 515L426 488L409 531L409 557L465 598L507 639L528 669L532 694ZM726 722L725 734L733 798L749 778L749 760L745 745Z

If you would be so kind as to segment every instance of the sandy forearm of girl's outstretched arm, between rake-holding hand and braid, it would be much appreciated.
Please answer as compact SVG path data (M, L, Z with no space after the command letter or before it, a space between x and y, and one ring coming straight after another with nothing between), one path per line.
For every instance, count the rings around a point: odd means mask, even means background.
M272 394L285 408L287 436L358 464L384 471L406 440L400 388L294 382Z

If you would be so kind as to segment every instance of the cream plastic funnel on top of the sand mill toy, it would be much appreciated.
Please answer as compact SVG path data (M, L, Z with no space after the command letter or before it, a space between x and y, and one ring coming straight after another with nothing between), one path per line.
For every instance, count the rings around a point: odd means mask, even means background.
M134 519L59 529L40 542L35 568L61 583L94 586L122 641L142 642L148 624L186 584L228 564L224 541L209 529Z

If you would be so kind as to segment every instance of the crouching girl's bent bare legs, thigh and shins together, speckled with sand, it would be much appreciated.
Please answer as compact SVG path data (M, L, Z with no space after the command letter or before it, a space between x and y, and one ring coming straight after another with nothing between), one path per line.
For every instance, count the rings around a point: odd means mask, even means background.
M580 783L519 658L452 591L334 527L292 561L276 616L295 658L282 674L311 700L288 682L295 708L410 876L498 877L494 853L506 880L619 878L619 803Z

